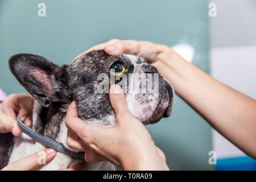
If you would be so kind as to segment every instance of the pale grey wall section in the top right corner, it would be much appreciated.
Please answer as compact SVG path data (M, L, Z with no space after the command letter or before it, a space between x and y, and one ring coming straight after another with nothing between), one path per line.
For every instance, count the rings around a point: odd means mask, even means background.
M210 19L212 47L256 44L255 0L209 0L216 3L217 16Z

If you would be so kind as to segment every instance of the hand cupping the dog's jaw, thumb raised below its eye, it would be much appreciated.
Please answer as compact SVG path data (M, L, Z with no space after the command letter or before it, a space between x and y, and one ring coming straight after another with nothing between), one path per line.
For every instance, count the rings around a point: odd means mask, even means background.
M110 101L116 117L114 126L83 122L77 117L76 105L72 102L65 119L73 131L69 131L68 146L84 150L86 161L89 155L96 160L109 160L126 170L168 170L163 152L155 146L146 127L128 110L119 85L110 87Z

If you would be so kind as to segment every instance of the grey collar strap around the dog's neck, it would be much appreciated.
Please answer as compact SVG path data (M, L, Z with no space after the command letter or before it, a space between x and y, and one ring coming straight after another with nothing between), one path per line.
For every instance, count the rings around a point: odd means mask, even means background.
M19 118L19 115L17 115L17 121L18 125L20 127L20 130L23 131L23 133L27 134L32 139L36 140L36 142L42 143L44 146L47 146L49 148L52 148L58 152L61 152L62 154L71 156L72 159L80 159L84 160L84 152L73 152L70 150L67 150L63 146L63 144L56 142L55 140L52 140L50 138L44 137L43 135L40 135L38 133L35 133L30 127L27 127Z

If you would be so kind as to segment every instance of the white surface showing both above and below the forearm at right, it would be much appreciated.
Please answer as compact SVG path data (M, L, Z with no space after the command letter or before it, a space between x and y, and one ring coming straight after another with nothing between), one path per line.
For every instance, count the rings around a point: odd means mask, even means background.
M217 80L256 99L256 46L213 48L210 72ZM218 159L245 155L215 130L212 138Z

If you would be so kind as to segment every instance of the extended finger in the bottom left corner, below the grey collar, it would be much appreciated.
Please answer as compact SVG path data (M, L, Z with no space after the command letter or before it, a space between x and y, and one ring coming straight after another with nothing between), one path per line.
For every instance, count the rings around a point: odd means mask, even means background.
M48 163L56 155L56 151L52 148L47 148L46 150L36 152L34 154L28 155L25 158L16 160L15 162L9 164L2 170L5 171L27 171L35 169L42 164Z

